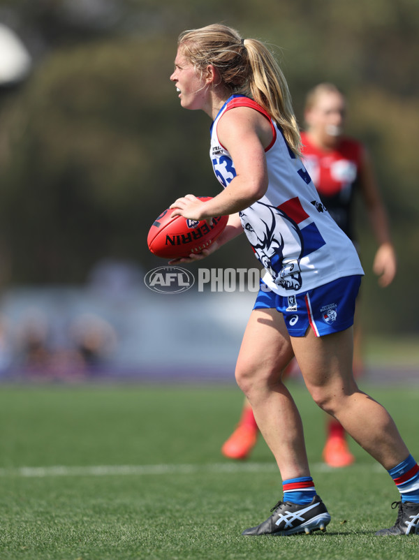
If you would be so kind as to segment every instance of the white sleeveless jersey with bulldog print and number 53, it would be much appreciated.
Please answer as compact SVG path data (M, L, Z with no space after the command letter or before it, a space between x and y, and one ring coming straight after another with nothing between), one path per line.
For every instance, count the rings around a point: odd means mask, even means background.
M211 128L210 157L216 177L226 187L236 172L221 145L217 124L235 107L251 107L269 119L273 139L265 149L269 184L257 202L240 212L247 238L265 267L263 280L275 293L306 292L341 277L364 274L351 240L323 206L302 161L281 129L251 99L234 95L223 105Z

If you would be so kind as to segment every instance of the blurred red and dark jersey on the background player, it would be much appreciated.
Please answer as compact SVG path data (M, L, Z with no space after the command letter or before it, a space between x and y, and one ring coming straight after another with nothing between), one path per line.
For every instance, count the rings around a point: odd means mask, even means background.
M316 186L321 202L346 235L354 240L353 200L358 186L364 147L358 140L341 138L332 149L314 145L301 134L305 168Z

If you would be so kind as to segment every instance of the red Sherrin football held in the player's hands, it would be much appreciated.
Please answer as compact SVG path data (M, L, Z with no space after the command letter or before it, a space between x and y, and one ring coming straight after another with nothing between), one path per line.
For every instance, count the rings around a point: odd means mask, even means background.
M211 196L198 196L211 200ZM183 216L170 218L173 209L166 209L156 218L147 235L149 250L162 258L181 258L200 253L216 240L226 227L228 216L217 216L211 226L206 220L189 220Z

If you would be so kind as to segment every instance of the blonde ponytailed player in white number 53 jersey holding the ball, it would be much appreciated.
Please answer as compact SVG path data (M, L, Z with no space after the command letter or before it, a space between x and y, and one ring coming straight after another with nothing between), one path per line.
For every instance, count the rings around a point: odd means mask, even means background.
M281 378L294 356L316 404L388 470L401 492L395 526L378 534L416 532L419 466L388 412L353 378L362 267L302 165L277 62L260 41L215 24L179 37L170 80L183 108L212 119L210 157L223 186L207 202L192 194L178 198L172 215L230 216L211 249L172 263L205 258L244 230L266 272L235 375L277 461L284 495L265 522L243 534L310 533L330 522L309 470L300 414Z

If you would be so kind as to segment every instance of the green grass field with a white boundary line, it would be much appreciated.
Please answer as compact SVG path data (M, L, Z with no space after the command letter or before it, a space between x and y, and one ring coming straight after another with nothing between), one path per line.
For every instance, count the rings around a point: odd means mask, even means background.
M323 414L291 383L318 493L332 522L311 536L245 538L270 515L281 480L259 441L248 462L220 446L240 392L226 386L2 386L0 559L377 559L419 557L419 536L378 538L395 522L394 484L357 462L321 463ZM419 457L419 386L369 388Z

